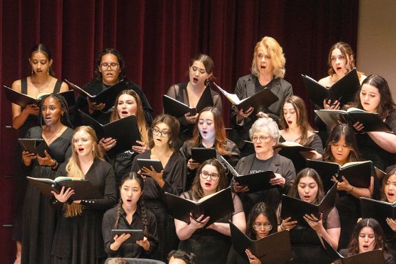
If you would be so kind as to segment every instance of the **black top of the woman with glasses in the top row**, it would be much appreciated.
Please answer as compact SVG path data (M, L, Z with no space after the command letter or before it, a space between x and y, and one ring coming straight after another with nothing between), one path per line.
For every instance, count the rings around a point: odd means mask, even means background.
M128 88L130 90L134 90L136 92L136 94L138 94L138 96L140 97L140 100L142 101L142 105L143 105L143 111L145 112L145 118L146 118L146 122L147 124L151 124L153 121L153 116L154 116L154 110L152 108L152 106L150 105L149 101L147 101L147 98L143 92L143 90L136 84L133 83L132 81L125 81L125 83L128 85ZM100 80L94 80L91 81L90 83L86 84L83 87L83 90L85 90L86 92L88 92L89 94L92 95L96 95L99 92L102 92L103 90L109 88L110 85L105 85L105 83L103 83ZM87 103L87 99L86 97L84 97L83 95L79 94L76 98L76 108L83 110L85 113L88 114L88 103ZM74 114L78 114L74 113ZM94 117L94 119L98 120L100 123L109 123L110 121L110 115L111 115L111 111L110 112L101 112L101 111L95 111L92 114L92 117ZM81 125L81 120L79 119L79 116L76 116L76 125Z

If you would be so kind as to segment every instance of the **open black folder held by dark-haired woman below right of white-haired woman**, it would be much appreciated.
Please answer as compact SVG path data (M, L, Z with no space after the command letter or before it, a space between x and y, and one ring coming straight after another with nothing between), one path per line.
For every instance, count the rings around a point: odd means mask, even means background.
M323 216L329 214L335 205L335 194L337 194L337 184L335 183L319 205L307 203L298 198L282 194L282 210L280 211L280 217L282 219L291 217L291 221L298 221L298 225L309 226L303 216L305 214L313 214L319 219L321 213Z

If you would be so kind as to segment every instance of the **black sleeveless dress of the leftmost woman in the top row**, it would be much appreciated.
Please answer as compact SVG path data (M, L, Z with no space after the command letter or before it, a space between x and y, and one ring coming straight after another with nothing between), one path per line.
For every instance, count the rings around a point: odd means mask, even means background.
M61 90L62 81L57 80L55 83L53 93L59 93ZM28 94L28 79L21 79L21 93ZM39 116L34 116L30 114L28 119L26 119L25 123L18 130L18 139L23 139L26 136L26 132L28 132L29 128L32 128L36 125L39 125ZM21 153L22 148L21 145L16 144L17 148L15 148L14 152L14 181L15 181L15 200L14 200L14 212L15 218L14 223L12 223L12 239L14 241L22 240L22 208L23 208L23 200L25 199L26 192L26 171L22 170L21 167Z

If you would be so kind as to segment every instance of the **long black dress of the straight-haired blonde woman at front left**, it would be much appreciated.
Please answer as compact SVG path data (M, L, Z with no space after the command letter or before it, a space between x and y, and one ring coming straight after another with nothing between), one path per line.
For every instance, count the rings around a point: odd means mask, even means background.
M67 176L65 163L59 167L56 176ZM112 166L101 159L95 159L85 179L96 187L103 199L83 200L83 213L66 218L62 205L52 199L57 210L57 223L52 246L54 264L96 264L107 258L102 236L102 219L106 210L116 203L116 181Z

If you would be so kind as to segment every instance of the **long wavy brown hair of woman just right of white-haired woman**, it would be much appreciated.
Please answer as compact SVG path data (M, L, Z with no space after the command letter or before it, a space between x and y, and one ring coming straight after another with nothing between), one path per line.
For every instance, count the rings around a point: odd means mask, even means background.
M295 114L297 115L297 125L300 127L301 130L301 136L298 138L300 145L308 144L313 140L313 137L309 136L309 132L313 133L313 128L311 127L308 121L308 112L306 112L306 106L304 100L302 100L300 97L297 97L295 95L291 95L290 97L287 97L284 100L282 109L280 110L280 114L279 114L280 126L284 130L289 128L289 124L286 122L286 119L284 119L284 114L283 114L283 107L285 103L291 103L291 105L293 105L293 108L295 110Z

